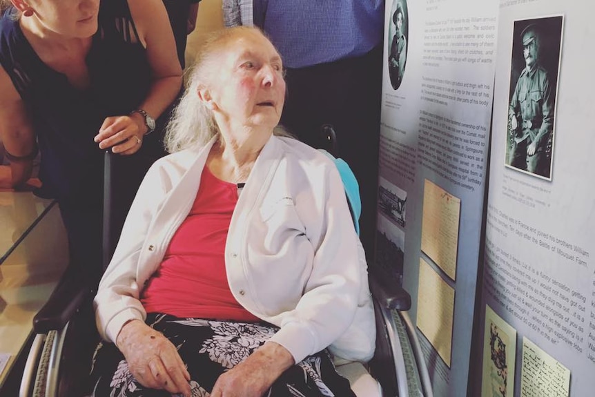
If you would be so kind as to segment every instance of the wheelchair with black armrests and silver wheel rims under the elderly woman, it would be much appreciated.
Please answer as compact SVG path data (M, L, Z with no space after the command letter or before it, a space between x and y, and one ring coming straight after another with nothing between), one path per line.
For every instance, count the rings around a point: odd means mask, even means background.
M336 136L332 126L323 126L322 134L328 143L324 149L334 158ZM105 269L147 167L109 151L105 153L104 162L102 260ZM345 178L355 181L350 170L346 174L340 168L340 173L344 182ZM347 197L354 222L357 222L359 195L347 194ZM78 397L88 392L86 380L99 342L92 310L96 287L81 285L77 279L77 271L68 269L33 320L35 338L23 371L19 397ZM386 280L395 279L369 264L377 333L375 356L365 366L348 362L338 365L337 369L349 379L358 397L433 397L416 329L407 315L411 306L409 293L398 282Z

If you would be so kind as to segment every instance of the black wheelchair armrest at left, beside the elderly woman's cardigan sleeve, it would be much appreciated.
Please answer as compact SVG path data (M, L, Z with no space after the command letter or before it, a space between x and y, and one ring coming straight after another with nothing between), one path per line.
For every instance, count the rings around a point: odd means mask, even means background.
M92 288L87 277L68 267L52 292L48 302L33 318L35 333L63 329L84 302L90 299Z

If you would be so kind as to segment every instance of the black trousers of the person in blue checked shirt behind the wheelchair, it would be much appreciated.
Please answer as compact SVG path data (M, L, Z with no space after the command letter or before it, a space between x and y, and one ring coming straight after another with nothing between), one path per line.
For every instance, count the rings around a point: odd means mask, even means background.
M382 95L382 49L362 57L287 70L287 97L281 123L302 142L324 148L321 126L331 124L338 157L358 178L362 198L361 240L373 257L378 142Z

